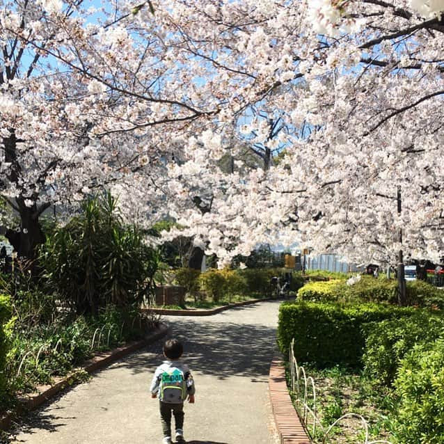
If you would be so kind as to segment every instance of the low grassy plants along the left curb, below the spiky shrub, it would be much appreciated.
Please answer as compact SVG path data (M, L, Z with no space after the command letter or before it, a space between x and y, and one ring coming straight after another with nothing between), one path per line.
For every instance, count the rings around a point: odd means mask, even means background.
M158 323L149 312L107 306L96 317L61 315L55 322L23 331L15 324L10 331L6 355L8 390L26 392L35 385L51 383L83 363L95 351L143 338Z

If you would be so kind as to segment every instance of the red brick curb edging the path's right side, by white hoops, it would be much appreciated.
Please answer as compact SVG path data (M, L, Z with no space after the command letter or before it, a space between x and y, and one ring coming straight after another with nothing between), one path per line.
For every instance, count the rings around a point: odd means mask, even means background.
M310 444L310 438L290 399L285 368L280 358L271 361L268 386L280 444Z

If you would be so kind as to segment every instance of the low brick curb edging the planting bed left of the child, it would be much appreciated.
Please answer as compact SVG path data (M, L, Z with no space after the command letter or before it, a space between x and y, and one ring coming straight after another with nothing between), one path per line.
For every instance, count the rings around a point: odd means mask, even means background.
M116 360L123 358L131 354L133 351L141 349L148 344L152 344L156 340L163 338L168 331L168 327L165 324L161 324L159 328L157 328L154 333L148 335L145 339L129 342L123 347L118 347L112 351L106 351L97 353L93 358L87 360L81 367L80 370L85 370L88 373L95 372L96 370L100 370L101 368L106 367L107 365L115 362ZM77 369L77 371L79 370ZM61 390L72 385L72 375L75 374L75 370L71 375L63 376L60 378L56 378L56 381L51 386L39 386L37 388L38 395L26 395L22 399L20 399L19 407L12 412L6 413L5 415L0 416L0 430L7 430L13 419L22 413L24 410L33 410L36 407L40 406L44 402L46 402L49 398L53 397L57 393L61 392Z

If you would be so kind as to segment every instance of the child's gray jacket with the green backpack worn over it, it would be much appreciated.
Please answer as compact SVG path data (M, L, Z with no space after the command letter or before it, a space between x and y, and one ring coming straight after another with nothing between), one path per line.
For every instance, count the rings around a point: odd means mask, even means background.
M177 404L194 395L196 388L188 365L181 360L164 360L154 372L150 391L162 402Z

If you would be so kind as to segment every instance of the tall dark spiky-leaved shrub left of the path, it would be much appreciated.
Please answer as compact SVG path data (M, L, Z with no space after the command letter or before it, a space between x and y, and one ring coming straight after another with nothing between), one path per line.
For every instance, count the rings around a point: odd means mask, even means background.
M51 290L77 313L97 313L111 303L127 306L152 294L157 253L135 226L122 223L107 193L84 203L80 216L48 237L40 253Z

